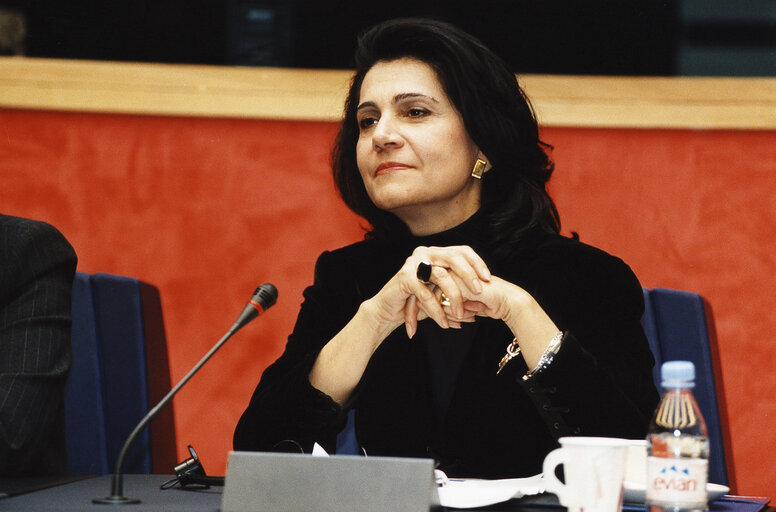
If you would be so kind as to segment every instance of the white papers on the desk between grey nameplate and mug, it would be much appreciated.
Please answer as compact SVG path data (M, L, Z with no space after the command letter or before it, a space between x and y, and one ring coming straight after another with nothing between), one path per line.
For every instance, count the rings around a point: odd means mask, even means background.
M544 492L542 475L502 480L449 478L439 487L439 502L448 508L486 507Z

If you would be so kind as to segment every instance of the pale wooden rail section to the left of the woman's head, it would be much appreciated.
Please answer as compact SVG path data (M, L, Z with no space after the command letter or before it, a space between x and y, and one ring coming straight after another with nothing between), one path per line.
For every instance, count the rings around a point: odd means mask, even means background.
M344 71L0 58L0 106L86 112L338 119Z

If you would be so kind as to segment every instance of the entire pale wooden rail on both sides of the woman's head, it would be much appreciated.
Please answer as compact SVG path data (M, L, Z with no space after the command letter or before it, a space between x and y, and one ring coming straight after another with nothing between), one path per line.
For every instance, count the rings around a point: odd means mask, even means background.
M350 71L0 58L0 107L340 119ZM544 126L776 129L776 79L520 77Z

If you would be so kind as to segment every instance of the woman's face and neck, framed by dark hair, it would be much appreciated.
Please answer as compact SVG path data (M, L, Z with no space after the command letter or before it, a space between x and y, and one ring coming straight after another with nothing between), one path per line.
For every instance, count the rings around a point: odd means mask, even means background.
M456 226L480 206L471 170L481 152L426 63L380 61L364 76L356 114L358 169L374 204L416 235Z

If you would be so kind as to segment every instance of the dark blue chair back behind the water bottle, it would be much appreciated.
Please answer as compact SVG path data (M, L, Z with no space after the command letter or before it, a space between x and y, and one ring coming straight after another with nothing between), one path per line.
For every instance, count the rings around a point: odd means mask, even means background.
M716 351L716 337L711 310L698 294L662 288L644 289L644 302L641 324L655 356L655 386L661 389L660 366L663 362L684 360L695 364L693 394L709 433L709 481L728 485L723 442L727 421L717 401L715 368L718 364L713 352ZM719 370L716 374L719 375Z

